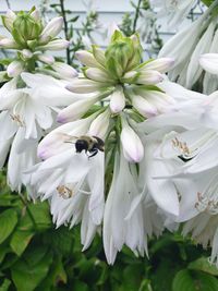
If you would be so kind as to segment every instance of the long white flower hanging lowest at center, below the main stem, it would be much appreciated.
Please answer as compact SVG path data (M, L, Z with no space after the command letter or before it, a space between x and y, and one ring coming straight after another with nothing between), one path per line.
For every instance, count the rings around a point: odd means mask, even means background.
M153 203L142 203L135 211L131 211L138 194L134 170L131 171L122 153L120 157L117 154L104 215L104 248L109 264L114 263L117 253L124 244L144 256L147 254L147 237L153 233L159 235L164 229L164 220Z

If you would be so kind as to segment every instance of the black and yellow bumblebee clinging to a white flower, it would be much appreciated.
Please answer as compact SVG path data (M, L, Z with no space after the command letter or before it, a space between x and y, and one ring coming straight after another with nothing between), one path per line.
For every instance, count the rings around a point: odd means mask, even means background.
M88 151L90 154L88 158L92 158L97 155L98 150L105 150L105 143L97 136L82 135L75 142L75 150L76 153L85 150L86 154Z

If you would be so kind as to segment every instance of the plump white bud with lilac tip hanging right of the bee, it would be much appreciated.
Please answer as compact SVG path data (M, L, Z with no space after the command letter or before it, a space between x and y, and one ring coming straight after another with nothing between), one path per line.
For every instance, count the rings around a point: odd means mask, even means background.
M123 118L120 138L122 142L123 155L125 159L130 162L140 162L144 157L144 146L138 135Z

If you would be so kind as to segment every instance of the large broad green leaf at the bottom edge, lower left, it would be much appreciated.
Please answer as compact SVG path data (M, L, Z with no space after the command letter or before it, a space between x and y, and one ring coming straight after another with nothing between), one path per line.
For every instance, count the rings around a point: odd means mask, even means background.
M34 259L28 257L37 254L39 254L37 250L35 254L34 250L32 250L29 254L26 254L12 266L12 280L17 291L33 291L48 274L52 262L51 253L47 252L43 258L39 256L40 260L36 259L36 257Z

